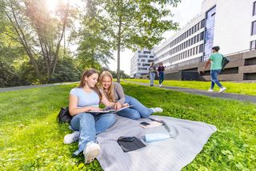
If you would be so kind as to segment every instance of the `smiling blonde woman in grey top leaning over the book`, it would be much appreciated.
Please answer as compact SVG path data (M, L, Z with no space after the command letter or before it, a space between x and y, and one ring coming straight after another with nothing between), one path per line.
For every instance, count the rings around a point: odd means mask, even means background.
M118 82L113 82L113 77L108 71L102 72L99 77L99 84L106 98L115 102L115 109L119 109L123 105L133 105L130 108L119 111L117 113L119 116L137 120L141 117L149 117L150 114L155 112L162 112L161 108L147 108L136 98L125 95L122 85Z

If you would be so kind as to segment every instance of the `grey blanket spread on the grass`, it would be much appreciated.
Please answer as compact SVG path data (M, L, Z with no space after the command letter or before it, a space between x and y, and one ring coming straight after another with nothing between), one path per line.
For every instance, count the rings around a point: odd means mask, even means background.
M101 146L97 159L102 169L106 171L181 170L194 160L210 135L217 130L214 125L199 121L187 121L174 117L150 117L166 121L174 137L146 143L142 136L146 133L167 133L164 126L143 129L139 123L150 121L150 119L134 121L117 116L116 123L97 136L98 144ZM117 143L120 136L138 137L146 147L124 153Z

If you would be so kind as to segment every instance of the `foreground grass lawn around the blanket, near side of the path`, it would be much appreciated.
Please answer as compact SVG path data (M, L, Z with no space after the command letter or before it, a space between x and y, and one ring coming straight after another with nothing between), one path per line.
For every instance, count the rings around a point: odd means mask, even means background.
M126 94L146 106L162 107L162 115L204 121L218 128L183 170L256 168L255 104L125 82L122 85ZM102 170L98 161L84 165L82 155L72 157L78 143L63 144L63 137L70 130L66 124L58 125L56 116L59 107L68 104L68 94L74 86L0 93L0 170Z

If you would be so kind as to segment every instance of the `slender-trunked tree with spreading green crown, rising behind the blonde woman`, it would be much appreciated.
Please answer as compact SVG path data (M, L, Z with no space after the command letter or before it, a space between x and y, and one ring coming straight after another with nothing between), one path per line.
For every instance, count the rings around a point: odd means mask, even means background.
M120 52L125 48L136 50L152 47L162 40L166 30L176 30L178 24L166 17L172 16L167 6L177 6L180 0L99 0L98 9L108 20L114 50L118 50L118 82L120 82ZM166 18L166 19L165 19Z

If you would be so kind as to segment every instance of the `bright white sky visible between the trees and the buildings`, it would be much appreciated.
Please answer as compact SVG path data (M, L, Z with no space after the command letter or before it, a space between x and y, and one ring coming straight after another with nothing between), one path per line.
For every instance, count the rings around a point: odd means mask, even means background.
M179 28L182 29L183 26L186 26L186 23L190 22L191 19L200 14L201 4L204 0L182 0L181 3L178 4L177 8L174 8L172 14L174 14L174 22L179 23ZM163 36L167 39L174 35L174 31L167 31L163 34ZM164 40L162 41L164 42ZM160 43L161 44L161 43ZM159 45L160 45L159 44ZM118 62L117 62L118 53L114 52L115 60L111 60L109 67L110 70L117 70ZM120 70L124 70L126 74L130 75L130 59L134 56L134 52L126 49L121 52L120 58Z

